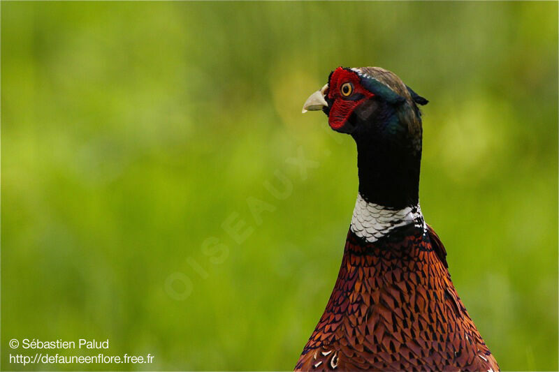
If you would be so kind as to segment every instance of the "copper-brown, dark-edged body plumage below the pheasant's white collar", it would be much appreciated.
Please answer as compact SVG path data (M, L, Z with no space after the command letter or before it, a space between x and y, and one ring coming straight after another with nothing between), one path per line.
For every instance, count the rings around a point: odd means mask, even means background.
M497 371L433 241L430 228L390 248L349 231L335 288L296 370Z

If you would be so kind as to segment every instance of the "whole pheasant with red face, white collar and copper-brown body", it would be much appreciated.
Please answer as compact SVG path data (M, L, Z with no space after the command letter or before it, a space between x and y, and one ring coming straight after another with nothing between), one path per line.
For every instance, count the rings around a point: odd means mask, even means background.
M359 188L342 266L296 371L498 371L419 207L428 101L389 70L336 68L312 94L357 144Z

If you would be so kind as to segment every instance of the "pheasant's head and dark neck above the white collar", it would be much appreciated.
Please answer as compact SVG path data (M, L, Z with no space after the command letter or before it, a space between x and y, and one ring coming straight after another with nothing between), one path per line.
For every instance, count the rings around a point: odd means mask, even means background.
M322 110L334 131L354 138L359 193L368 202L402 208L419 201L421 112L428 101L389 70L338 67L303 112Z

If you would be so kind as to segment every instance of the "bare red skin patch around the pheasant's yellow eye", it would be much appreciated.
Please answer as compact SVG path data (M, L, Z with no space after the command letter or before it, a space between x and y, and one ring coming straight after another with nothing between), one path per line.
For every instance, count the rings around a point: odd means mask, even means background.
M342 96L340 91L342 85L346 82L351 82L354 86L351 95L348 97ZM363 98L355 100L356 95L362 95ZM372 96L375 96L375 94L361 86L361 78L356 72L345 70L342 67L336 68L330 77L328 85L328 100L333 100L332 107L330 107L330 112L328 113L328 124L333 129L342 128L346 124L347 119L349 119L351 112Z

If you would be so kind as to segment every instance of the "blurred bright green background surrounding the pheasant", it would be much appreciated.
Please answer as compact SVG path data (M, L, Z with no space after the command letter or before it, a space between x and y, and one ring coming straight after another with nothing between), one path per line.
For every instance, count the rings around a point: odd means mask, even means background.
M557 370L557 14L2 2L1 368L292 369L357 193L351 138L300 114L342 65L388 68L430 100L421 207L456 288L502 369ZM10 364L26 337L155 359Z

